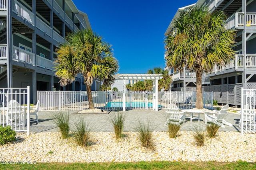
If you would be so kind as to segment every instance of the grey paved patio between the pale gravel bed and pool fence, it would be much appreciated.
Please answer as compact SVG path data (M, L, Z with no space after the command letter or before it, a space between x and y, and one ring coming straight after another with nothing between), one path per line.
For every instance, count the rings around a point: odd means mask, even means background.
M154 110L130 110L126 111L127 119L126 123L124 125L124 131L134 131L133 126L134 123L138 118L141 119L150 119L154 121L154 123L157 125L155 131L167 131L167 127L164 125L166 118L165 118L165 109L162 109L160 111L154 111ZM86 113L86 114L73 114L77 113L78 111L70 111L71 113L71 119L78 119L79 117L85 117L86 120L88 120L92 124L92 131L95 132L113 132L114 128L110 124L108 117L108 114L93 114L93 113ZM110 111L109 114L114 113L114 111ZM194 114L197 116L197 114ZM190 115L186 115L189 117ZM31 132L52 132L52 131L58 131L58 127L54 125L52 122L52 112L50 111L40 111L38 113L38 119L39 123L31 123L30 125L30 131ZM238 127L238 122L240 120L240 115L234 114L234 113L228 113L225 120L229 123L232 123L232 127L226 126L225 128L220 127L219 131L240 131L240 127ZM199 125L199 123L202 123L203 127L205 127L204 124L204 114L200 115L200 122L198 122L198 119L193 119L192 122L190 122L190 118L186 118L185 123L181 125L180 130L181 131L191 131L195 125ZM72 126L72 120L71 120L71 126Z

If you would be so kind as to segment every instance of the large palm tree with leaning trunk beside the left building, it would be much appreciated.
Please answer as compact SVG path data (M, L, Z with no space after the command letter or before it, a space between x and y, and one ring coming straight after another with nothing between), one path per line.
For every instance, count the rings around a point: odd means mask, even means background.
M111 45L90 29L83 29L67 35L67 43L57 49L56 77L60 85L66 86L75 81L81 73L88 95L89 108L94 109L92 101L92 82L102 80L105 86L114 83L118 71L118 61L113 57Z

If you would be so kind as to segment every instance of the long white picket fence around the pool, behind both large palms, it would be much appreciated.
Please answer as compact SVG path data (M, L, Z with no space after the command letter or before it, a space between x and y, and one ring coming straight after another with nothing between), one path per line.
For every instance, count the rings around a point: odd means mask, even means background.
M153 109L152 91L126 91L125 107L129 109ZM93 91L94 107L105 110L123 109L123 91ZM40 111L64 111L89 109L86 91L39 92ZM158 92L158 108L167 109L168 104L176 104L180 109L195 107L195 92ZM204 108L212 109L213 92L203 92Z

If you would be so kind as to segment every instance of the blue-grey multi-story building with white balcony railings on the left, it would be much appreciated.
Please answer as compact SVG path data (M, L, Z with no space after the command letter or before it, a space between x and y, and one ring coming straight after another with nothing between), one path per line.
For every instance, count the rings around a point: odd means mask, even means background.
M64 87L54 76L56 48L78 29L91 26L72 0L0 0L0 86L31 86L34 104L37 90L85 90L81 75Z

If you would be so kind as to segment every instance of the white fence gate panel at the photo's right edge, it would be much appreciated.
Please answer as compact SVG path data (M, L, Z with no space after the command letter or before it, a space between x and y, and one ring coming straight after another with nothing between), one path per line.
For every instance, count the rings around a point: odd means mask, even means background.
M241 134L256 131L256 90L241 88L241 117L239 126Z

